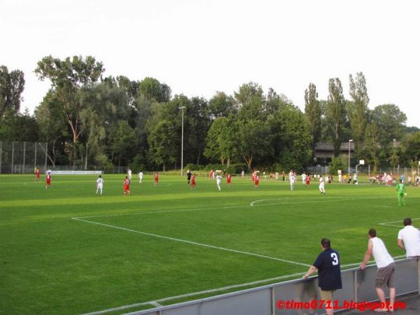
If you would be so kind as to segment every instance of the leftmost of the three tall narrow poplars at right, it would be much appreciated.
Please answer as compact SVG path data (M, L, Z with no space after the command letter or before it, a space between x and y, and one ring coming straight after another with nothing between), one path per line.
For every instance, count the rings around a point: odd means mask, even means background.
M313 137L312 148L321 139L321 104L318 101L318 92L314 83L309 83L309 87L304 90L304 113L307 118L309 133Z

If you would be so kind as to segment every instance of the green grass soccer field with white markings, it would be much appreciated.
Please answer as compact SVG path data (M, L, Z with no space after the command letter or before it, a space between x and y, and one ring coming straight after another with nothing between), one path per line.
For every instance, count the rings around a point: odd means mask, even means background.
M161 176L158 186L134 176L123 197L124 177L104 175L101 196L96 176L56 175L49 190L34 176L0 176L0 314L139 304L110 313L121 314L295 279L322 237L342 269L356 267L367 230L376 228L395 257L404 254L396 245L403 218L420 220L415 187L398 207L395 188L368 183L326 184L320 195L314 182L290 191L288 182L262 179L255 190L233 178L218 191L207 177L190 190L179 176Z

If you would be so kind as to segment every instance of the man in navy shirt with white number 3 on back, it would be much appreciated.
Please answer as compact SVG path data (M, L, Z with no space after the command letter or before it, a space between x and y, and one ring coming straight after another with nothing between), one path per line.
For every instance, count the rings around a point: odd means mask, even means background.
M321 288L321 300L325 300L325 311L327 315L334 314L332 309L332 293L335 290L342 288L341 269L339 267L339 254L331 248L329 239L321 239L322 253L318 255L315 262L303 278L307 279L308 276L318 270L318 286ZM328 307L328 308L327 308Z

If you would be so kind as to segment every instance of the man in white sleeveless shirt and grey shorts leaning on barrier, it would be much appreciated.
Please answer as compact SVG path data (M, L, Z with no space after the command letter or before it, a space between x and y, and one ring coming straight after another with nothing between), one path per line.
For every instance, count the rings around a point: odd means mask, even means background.
M377 264L377 276L374 281L374 286L377 291L379 300L384 307L377 308L374 311L386 312L393 311L393 304L395 301L395 286L394 286L394 272L395 265L394 260L386 250L384 242L377 237L376 230L370 229L368 232L369 241L367 242L367 251L365 253L365 259L360 265L360 269L365 269L367 262L370 260L370 256L373 255L374 261ZM389 307L385 307L385 292L384 287L389 288Z

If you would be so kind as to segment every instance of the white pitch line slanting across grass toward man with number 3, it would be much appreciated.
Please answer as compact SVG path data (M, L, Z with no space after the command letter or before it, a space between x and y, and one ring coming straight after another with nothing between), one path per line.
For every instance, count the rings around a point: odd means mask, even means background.
M293 264L293 265L300 265L300 266L305 266L305 267L310 267L311 266L311 265L304 264L302 262L296 262L296 261L292 261L292 260L270 257L270 256L267 256L267 255L260 255L260 254L257 254L257 253L250 253L248 251L237 251L236 249L232 249L232 248L225 248L225 247L219 247L219 246L214 246L214 245L209 245L209 244L197 243L196 241L187 241L186 239L176 239L174 237L165 237L165 236L157 235L157 234L153 234L153 233L147 233L147 232L141 232L141 231L131 230L131 229L127 229L127 228L122 228L122 227L116 226L116 225L109 225L109 224L104 224L104 223L99 223L99 222L94 222L94 221L87 221L87 220L83 220L83 219L80 219L80 218L72 218L72 219L76 220L76 221L82 221L82 222L85 222L85 223L102 225L102 226L106 226L108 228L114 228L114 229L123 230L123 231L127 231L127 232L139 233L141 235L148 235L148 236L151 236L151 237L159 237L161 239L169 239L171 241L180 241L180 242L186 243L186 244L192 244L192 245L197 245L197 246L219 249L221 251L230 251L232 253L241 253L241 254L244 254L244 255L250 255L250 256L255 256L255 257L260 257L260 258L267 258L267 259L277 260L277 261L281 261L281 262L288 262L289 264Z

